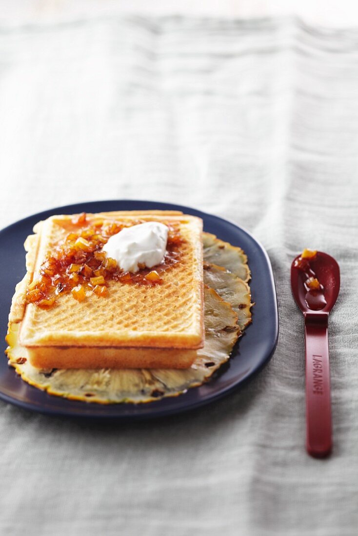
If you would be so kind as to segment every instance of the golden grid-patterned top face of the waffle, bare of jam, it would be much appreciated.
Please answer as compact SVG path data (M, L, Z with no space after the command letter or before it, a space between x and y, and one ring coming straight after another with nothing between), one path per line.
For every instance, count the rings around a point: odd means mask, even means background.
M86 301L78 303L71 294L65 294L59 296L57 305L49 310L30 304L26 311L26 339L59 331L73 332L74 337L88 331L198 331L200 284L195 280L193 267L200 259L191 225L183 222L180 232L184 239L180 261L162 272L162 285L147 287L110 281L106 298L89 292ZM46 249L50 251L66 234L67 230L53 223L47 229ZM43 244L43 251L42 248Z

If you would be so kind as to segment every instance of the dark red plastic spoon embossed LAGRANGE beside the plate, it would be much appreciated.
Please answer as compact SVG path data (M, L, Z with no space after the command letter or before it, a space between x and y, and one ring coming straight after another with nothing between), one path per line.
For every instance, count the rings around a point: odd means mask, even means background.
M317 251L309 260L308 271L291 265L291 288L304 315L306 349L306 449L323 458L332 449L330 360L328 356L328 313L339 293L339 266L333 257ZM311 291L305 285L316 276L321 288ZM322 289L323 286L323 289Z

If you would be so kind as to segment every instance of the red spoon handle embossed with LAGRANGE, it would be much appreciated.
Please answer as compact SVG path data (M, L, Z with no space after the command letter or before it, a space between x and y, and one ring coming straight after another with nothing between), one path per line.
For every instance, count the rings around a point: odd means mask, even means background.
M328 314L305 314L306 449L323 458L332 448Z

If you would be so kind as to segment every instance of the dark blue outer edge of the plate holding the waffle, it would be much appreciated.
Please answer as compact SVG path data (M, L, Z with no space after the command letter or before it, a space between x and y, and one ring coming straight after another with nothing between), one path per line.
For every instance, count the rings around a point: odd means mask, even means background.
M240 387L246 385L246 383L251 379L253 378L254 376L256 376L257 374L260 373L260 371L265 367L265 365L268 363L268 361L271 359L272 355L274 354L275 352L275 349L276 349L276 346L277 346L277 341L278 341L278 338L279 338L279 310L278 310L278 306L277 306L277 293L276 293L276 286L275 286L275 281L274 281L274 276L273 276L273 270L272 270L272 266L271 266L271 262L269 260L269 257L268 257L268 254L265 250L265 248L262 246L262 244L254 238L254 236L249 232L247 231L244 227L242 226L239 226L237 225L235 222L229 220L229 219L225 219L225 218L222 218L220 216L217 216L216 214L211 214L211 213L207 213L207 212L203 212L203 211L200 211L198 209L194 209L192 207L189 207L189 206L185 206L185 205L176 205L176 204L172 204L172 203L166 203L166 202L162 202L162 201L145 201L145 200L136 200L136 199L106 199L106 200L98 200L98 201L90 201L90 202L81 202L81 203L75 203L75 204L70 204L70 205L63 205L63 206L59 206L59 207L54 207L53 209L48 209L48 210L45 210L45 211L42 211L42 212L39 212L39 213L36 213L36 214L32 214L32 215L29 215L21 220L18 220L18 221L15 221L13 222L12 224L4 227L3 229L0 230L0 236L3 234L3 233L6 233L6 232L9 232L11 231L11 228L12 227L17 227L19 225L24 225L24 224L27 224L33 220L34 223L39 221L40 219L42 218L48 218L50 215L52 214L59 214L59 213L77 213L79 211L79 209L77 207L84 207L84 205L87 207L85 209L86 212L90 212L89 208L88 207L91 207L93 206L93 209L96 210L96 206L98 204L108 204L108 205L111 205L111 208L107 208L107 209L101 209L101 211L109 211L109 210L116 210L115 208L112 208L112 205L116 204L116 203L127 203L129 205L136 205L136 208L134 209L128 209L128 210L151 210L151 209L157 209L157 210L178 210L178 211L182 211L182 212L186 212L186 213L189 213L189 214L193 214L193 215L196 215L196 216L199 216L201 218L210 218L210 217L214 217L216 220L220 220L221 222L223 222L223 224L230 224L232 227L234 228L238 228L241 232L243 232L244 234L247 235L247 237L249 237L249 239L254 242L255 244L258 245L259 249L260 249L260 252L261 252L261 255L264 256L265 258L265 262L266 262L266 269L267 269L267 273L268 273L268 276L269 276L269 279L270 279L270 282L271 282L271 285L272 285L272 288L273 288L273 291L274 291L274 295L275 295L275 300L274 300L274 326L273 326L273 337L272 337L272 342L271 342L271 346L270 346L270 351L265 353L261 360L260 360L260 363L258 364L258 366L256 366L254 369L252 369L250 371L250 373L246 376L246 377L243 377L240 379L240 381L237 383L237 384L233 384L231 386L228 386L227 388L223 388L221 389L220 392L217 392L217 393L214 393L214 394L211 394L203 399L199 399L199 400L196 400L188 405L184 405L184 406L181 406L181 407L174 407L174 408L163 408L162 410L158 410L158 408L155 408L156 406L156 401L152 402L152 403L149 403L148 405L148 412L142 412L142 413L130 413L130 414L108 414L108 413L100 413L98 412L97 410L97 413L96 413L96 410L94 410L94 408L92 408L92 404L93 403L85 403L85 402L82 402L82 401L78 401L78 404L81 404L81 406L78 406L78 412L75 412L75 411L72 411L69 413L68 410L66 410L65 408L54 408L54 407L46 407L46 406L43 406L43 405L36 405L36 404L33 404L31 402L26 402L26 401L21 401L21 400L18 400L16 398L12 398L11 396L3 393L0 391L0 399L2 399L3 401L5 401L6 403L10 403L10 404L13 404L17 407L21 407L27 411L35 411L37 413L41 413L41 414L45 414L45 415L53 415L53 416L65 416L67 418L71 418L71 419L91 419L91 420L121 420L121 421L133 421L133 420L147 420L147 419L156 419L156 418L162 418L162 417L165 417L167 415L173 415L173 414L179 414L179 413L185 413L185 412L188 412L188 411L191 411L191 410L195 410L196 408L200 408L204 405L208 405L208 404L211 404L211 403L214 403L215 401L225 397L225 396L228 396L231 392L233 391L236 391L237 389L239 389ZM139 206L142 205L142 208L140 208ZM162 208L162 209L159 209L158 208L158 205L165 205L165 208ZM118 210L118 209L117 209ZM60 212L61 211L61 212ZM250 329L250 326L249 326L249 329ZM14 374L16 374L16 372L14 371ZM29 385L30 386L30 385ZM36 388L34 388L36 389ZM193 388L193 389L198 389L198 388ZM50 395L48 395L50 396ZM185 395L180 395L179 397L183 397ZM170 399L177 399L178 397L167 397L165 400L170 400ZM67 399L63 399L64 401L67 401ZM162 400L159 400L158 403L160 403ZM74 401L71 401L71 402L74 402ZM83 407L83 405L88 405L89 407ZM105 410L105 408L111 408L111 407L118 407L120 406L120 404L101 404L101 405L97 405L96 404L96 408L103 408L103 410ZM140 404L138 406L147 406L147 404ZM136 405L130 405L130 407L137 407ZM94 411L93 411L94 410ZM155 411L153 411L155 410ZM92 411L92 412L91 412Z

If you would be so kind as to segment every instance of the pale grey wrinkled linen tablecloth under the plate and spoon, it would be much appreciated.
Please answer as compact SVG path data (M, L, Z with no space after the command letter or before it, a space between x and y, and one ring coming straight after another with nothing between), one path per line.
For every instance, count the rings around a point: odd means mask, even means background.
M0 403L1 534L358 533L357 154L356 29L137 17L0 28L2 226L85 200L192 205L265 245L280 307L268 366L192 413L119 425ZM304 246L341 267L327 460L304 450L289 284Z

